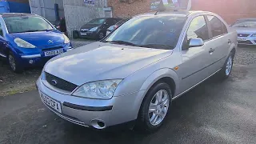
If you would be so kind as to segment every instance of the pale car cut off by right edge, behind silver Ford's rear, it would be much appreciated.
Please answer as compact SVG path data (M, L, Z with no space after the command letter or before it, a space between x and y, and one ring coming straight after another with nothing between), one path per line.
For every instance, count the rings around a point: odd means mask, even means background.
M256 18L238 19L232 27L238 32L238 44L256 45Z

